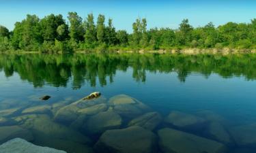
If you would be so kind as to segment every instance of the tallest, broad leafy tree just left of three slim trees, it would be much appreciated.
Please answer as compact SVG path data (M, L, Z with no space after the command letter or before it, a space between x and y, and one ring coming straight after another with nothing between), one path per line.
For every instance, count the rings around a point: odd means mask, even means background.
M70 21L70 38L75 41L83 41L84 29L83 19L76 12L68 12L68 20Z

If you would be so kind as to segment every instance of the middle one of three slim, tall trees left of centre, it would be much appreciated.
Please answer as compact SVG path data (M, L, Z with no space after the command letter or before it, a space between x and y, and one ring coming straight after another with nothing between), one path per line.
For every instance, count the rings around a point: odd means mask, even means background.
M97 39L100 42L100 44L104 42L104 31L105 31L104 22L105 22L105 16L100 14L98 16L97 27L96 27Z

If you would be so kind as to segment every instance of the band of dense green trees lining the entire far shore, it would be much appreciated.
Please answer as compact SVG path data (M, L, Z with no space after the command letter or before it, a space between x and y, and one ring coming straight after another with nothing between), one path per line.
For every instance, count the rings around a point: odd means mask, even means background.
M112 19L100 14L95 22L88 14L83 20L76 12L51 14L40 19L27 15L16 22L14 30L0 26L0 52L38 51L74 52L78 50L171 50L182 48L256 48L256 18L251 23L227 22L215 27L212 22L204 27L192 27L188 19L178 29L147 29L147 20L138 18L132 33L117 31Z

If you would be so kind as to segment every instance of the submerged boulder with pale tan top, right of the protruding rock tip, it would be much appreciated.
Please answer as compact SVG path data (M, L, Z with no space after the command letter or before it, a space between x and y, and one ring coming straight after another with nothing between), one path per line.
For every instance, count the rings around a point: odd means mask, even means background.
M111 111L126 118L134 118L145 112L150 112L151 110L150 107L144 103L127 95L111 97L111 99L109 99L109 105L111 106Z

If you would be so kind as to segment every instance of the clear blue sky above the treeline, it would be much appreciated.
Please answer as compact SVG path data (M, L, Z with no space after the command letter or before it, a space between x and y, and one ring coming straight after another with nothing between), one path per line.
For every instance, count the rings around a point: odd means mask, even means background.
M256 18L255 0L0 0L0 24L14 28L26 14L40 18L48 14L78 12L85 18L93 12L113 18L117 29L132 31L137 17L147 18L148 28L170 27L176 29L182 19L188 18L193 27L212 21L215 25L232 22L250 22Z

